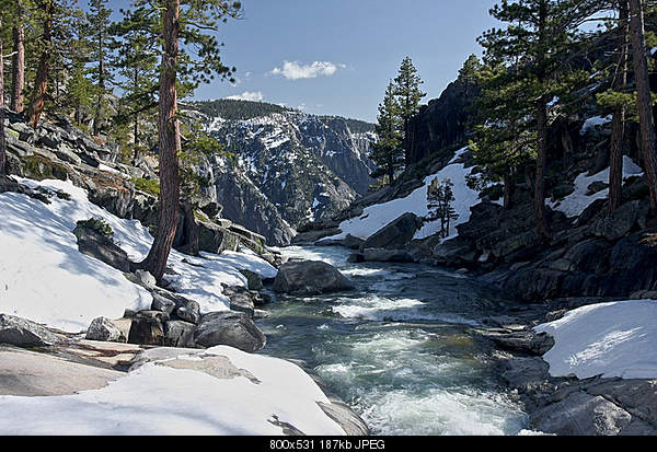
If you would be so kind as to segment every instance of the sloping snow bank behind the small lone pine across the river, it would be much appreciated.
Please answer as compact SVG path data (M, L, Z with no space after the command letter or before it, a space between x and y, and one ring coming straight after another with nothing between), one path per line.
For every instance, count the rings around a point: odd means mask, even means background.
M451 222L449 237L457 236L456 227L468 222L471 215L470 208L480 202L479 192L471 189L465 179L472 173L473 167L466 169L462 163L454 163L466 150L468 148L459 150L447 166L436 174L425 177L424 185L407 197L367 207L359 218L353 218L339 224L341 234L322 239L320 242L345 239L348 234L367 240L381 228L406 212L415 213L418 217L427 216L429 212L427 208L427 188L436 177L440 181L450 178L454 184L452 187L454 194L452 206L459 218ZM417 231L415 239L426 239L439 231L440 221L433 221Z

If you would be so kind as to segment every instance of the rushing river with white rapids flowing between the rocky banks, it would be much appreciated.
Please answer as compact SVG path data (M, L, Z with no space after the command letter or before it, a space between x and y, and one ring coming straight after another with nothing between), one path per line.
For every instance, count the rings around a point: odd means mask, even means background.
M470 333L505 304L475 280L412 264L347 264L341 247L287 247L357 290L275 297L264 354L302 359L374 434L518 434L527 416Z

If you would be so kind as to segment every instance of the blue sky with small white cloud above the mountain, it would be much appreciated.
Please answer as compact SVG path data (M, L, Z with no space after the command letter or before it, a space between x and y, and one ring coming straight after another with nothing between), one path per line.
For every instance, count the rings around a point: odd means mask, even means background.
M83 0L82 0L83 1ZM111 1L113 5L127 1ZM216 80L195 98L241 96L308 113L376 121L405 56L438 97L495 25L495 0L242 0L244 19L221 25L223 60L238 83ZM286 63L287 61L287 63Z

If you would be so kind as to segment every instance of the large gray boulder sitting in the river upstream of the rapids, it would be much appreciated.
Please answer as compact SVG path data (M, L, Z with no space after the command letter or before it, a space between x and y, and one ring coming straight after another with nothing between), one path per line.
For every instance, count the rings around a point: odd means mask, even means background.
M275 292L295 295L319 295L354 288L354 283L335 267L320 260L287 263L274 281Z

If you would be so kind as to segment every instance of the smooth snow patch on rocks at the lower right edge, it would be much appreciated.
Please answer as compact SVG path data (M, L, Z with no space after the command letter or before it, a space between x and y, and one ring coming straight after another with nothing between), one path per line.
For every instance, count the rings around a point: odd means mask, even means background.
M534 331L555 339L554 347L543 355L553 376L657 378L655 300L583 306Z

